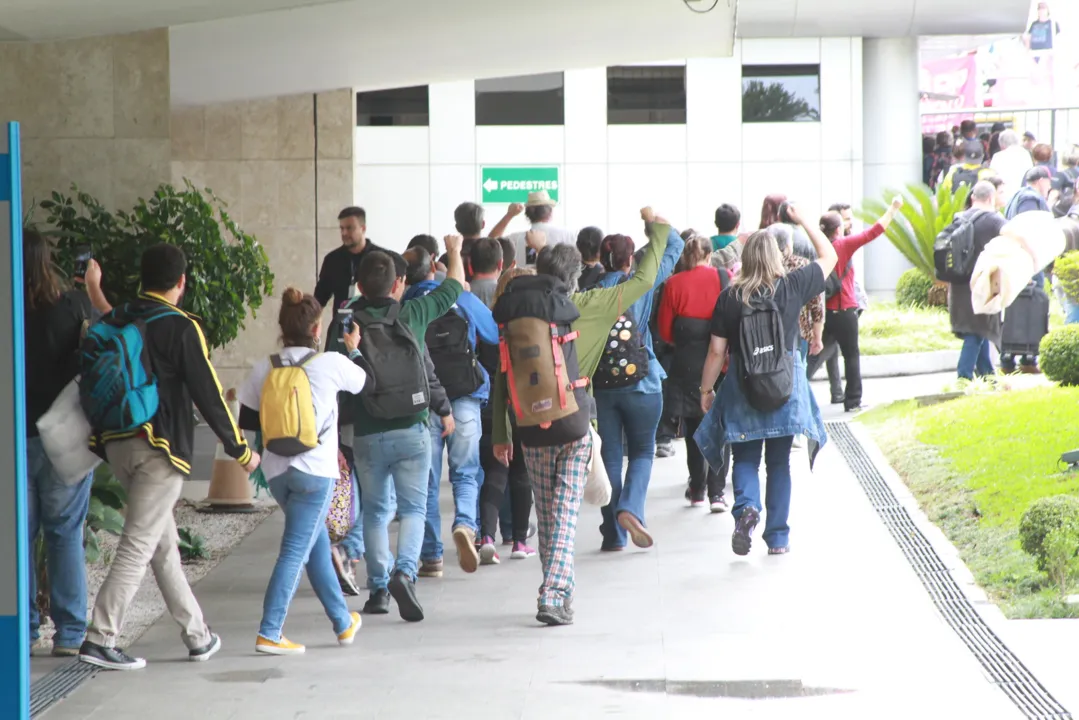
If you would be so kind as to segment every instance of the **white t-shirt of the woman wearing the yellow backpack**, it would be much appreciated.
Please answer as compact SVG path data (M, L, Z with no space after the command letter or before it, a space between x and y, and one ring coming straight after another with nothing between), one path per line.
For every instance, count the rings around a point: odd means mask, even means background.
M298 363L311 352L310 348L285 348L281 351L286 363ZM340 353L323 353L303 369L311 381L311 395L315 404L315 423L319 427L318 447L303 454L283 458L267 451L262 456L262 472L267 479L277 477L289 467L317 477L337 478L338 470L338 393L358 393L364 389L367 373ZM262 385L270 375L270 358L259 361L240 389L240 403L252 410L262 406Z

